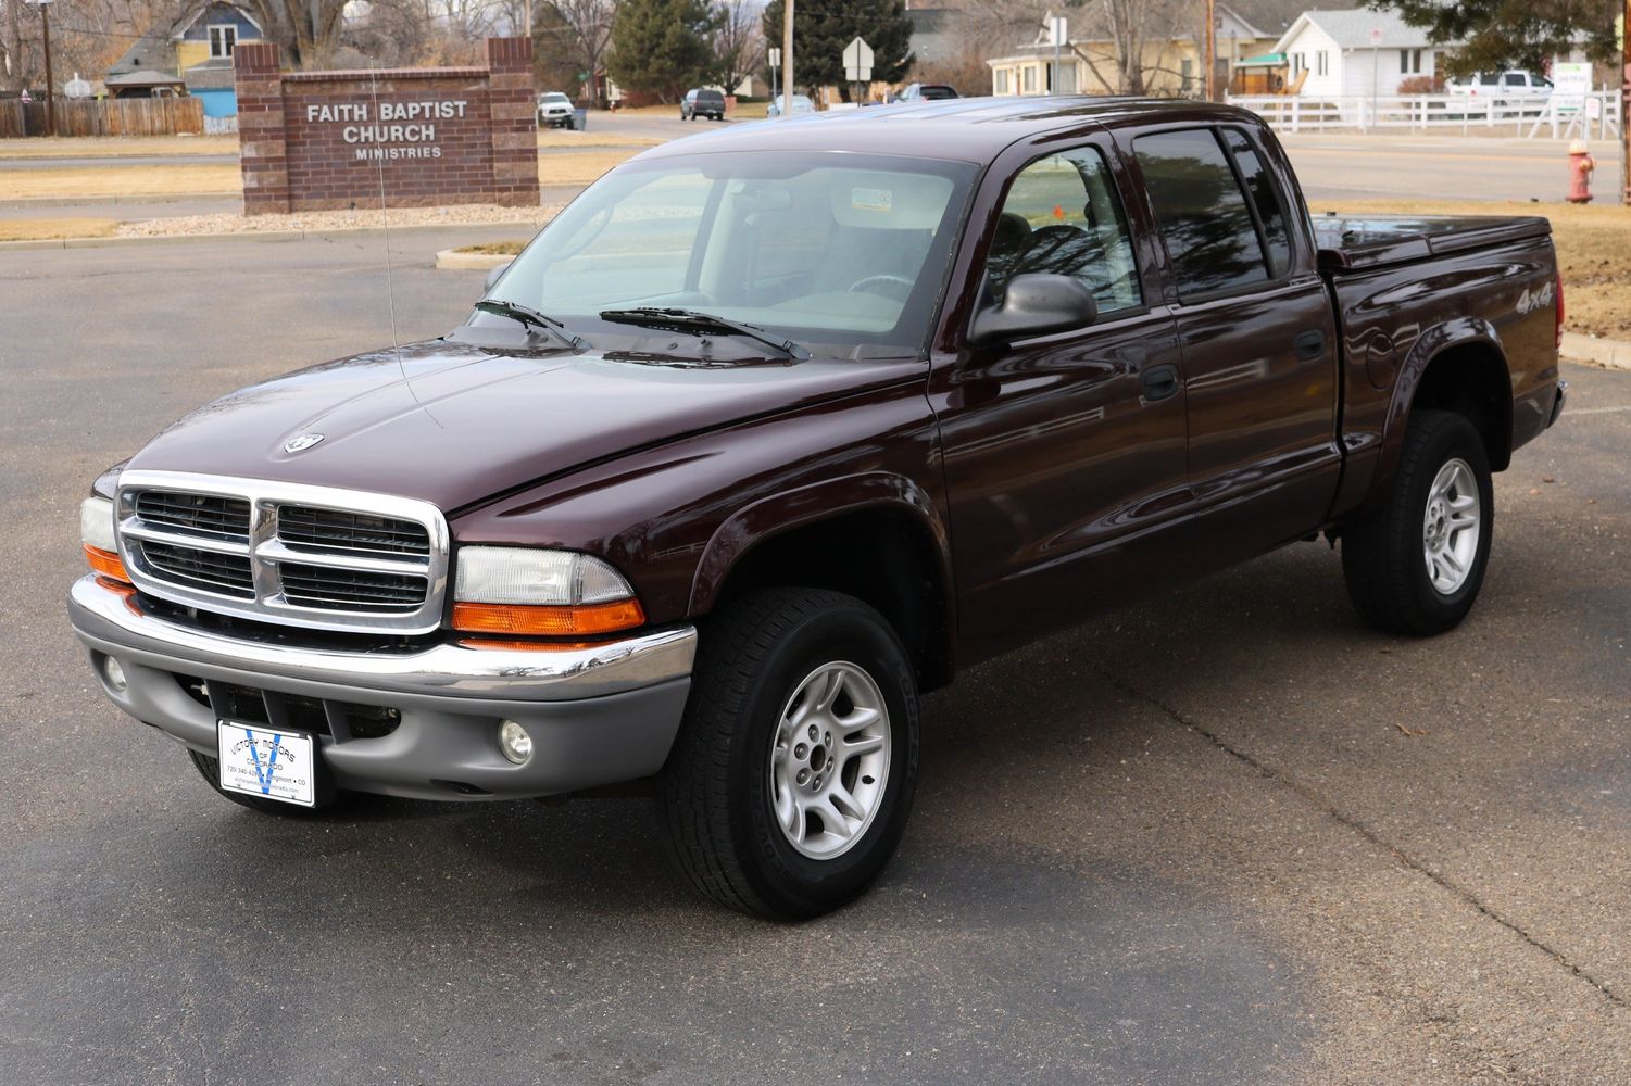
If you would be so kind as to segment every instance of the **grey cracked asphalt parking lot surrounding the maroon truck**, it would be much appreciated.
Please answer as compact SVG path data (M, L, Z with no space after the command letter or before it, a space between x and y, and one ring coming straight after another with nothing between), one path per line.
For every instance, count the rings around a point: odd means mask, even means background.
M400 334L480 272L393 236ZM1631 1081L1631 373L1497 479L1470 621L1352 616L1302 545L966 675L895 864L778 926L639 801L282 822L96 691L90 478L388 342L375 238L0 261L0 1081Z

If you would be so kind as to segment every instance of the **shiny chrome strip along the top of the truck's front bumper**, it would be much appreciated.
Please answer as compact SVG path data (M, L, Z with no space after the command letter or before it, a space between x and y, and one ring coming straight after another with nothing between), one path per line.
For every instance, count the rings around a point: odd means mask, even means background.
M69 592L73 631L96 651L153 667L207 664L250 675L414 695L569 701L654 686L692 673L696 629L680 626L581 649L346 652L232 638L186 626L85 576Z

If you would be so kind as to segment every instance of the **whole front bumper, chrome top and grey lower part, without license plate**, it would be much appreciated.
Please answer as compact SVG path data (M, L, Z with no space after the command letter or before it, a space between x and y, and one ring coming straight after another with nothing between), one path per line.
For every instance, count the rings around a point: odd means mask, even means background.
M696 652L688 626L545 651L315 647L292 633L194 625L95 576L75 582L69 620L106 695L144 724L214 753L217 719L264 714L312 731L339 788L413 799L520 799L651 776L678 731ZM506 719L532 735L525 765L499 750Z

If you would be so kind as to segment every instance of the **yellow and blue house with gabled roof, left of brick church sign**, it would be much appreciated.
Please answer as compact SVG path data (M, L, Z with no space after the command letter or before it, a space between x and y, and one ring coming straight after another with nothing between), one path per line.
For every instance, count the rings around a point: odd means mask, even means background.
M116 95L147 96L152 82L132 83L127 77L145 72L179 80L204 103L204 116L238 114L233 90L232 52L240 42L261 41L264 31L246 10L228 0L188 3L175 18L153 24L124 55L113 62L104 80ZM176 83L170 83L171 88Z

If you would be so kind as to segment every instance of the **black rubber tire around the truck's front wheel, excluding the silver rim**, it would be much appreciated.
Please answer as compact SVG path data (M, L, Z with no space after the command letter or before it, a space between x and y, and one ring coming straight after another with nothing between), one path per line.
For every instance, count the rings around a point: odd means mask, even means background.
M848 851L816 859L775 819L770 758L783 708L812 670L833 662L876 683L889 711L889 768L876 814ZM698 892L727 908L802 920L853 900L889 863L917 771L917 682L889 623L838 592L775 589L708 621L657 804L669 853Z

